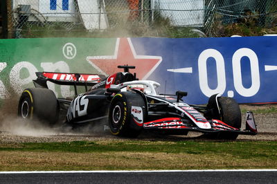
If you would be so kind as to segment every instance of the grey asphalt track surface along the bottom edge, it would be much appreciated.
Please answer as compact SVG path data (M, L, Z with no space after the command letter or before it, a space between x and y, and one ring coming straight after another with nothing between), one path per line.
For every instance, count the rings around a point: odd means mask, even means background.
M0 172L0 183L276 183L274 170Z

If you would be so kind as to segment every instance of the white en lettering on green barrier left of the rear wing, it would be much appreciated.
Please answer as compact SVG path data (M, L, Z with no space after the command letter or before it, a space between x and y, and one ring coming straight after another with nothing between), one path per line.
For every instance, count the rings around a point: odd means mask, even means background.
M20 75L24 68L28 71L28 77ZM37 68L30 62L19 62L15 64L10 71L10 85L12 89L18 94L22 93L24 85L29 84L37 78L35 75L36 72Z

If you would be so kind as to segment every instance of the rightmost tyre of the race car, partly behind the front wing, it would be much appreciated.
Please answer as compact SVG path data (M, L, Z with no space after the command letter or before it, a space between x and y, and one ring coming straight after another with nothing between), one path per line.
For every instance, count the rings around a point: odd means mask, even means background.
M222 122L230 125L231 127L240 129L242 125L242 115L240 113L240 106L233 98L220 97L218 98L220 106L220 114L213 115L213 119L221 120ZM211 106L210 106L211 107ZM213 107L214 109L217 107ZM215 111L215 110L213 110ZM206 134L208 138L235 140L238 138L238 133L234 132L218 132L215 134Z

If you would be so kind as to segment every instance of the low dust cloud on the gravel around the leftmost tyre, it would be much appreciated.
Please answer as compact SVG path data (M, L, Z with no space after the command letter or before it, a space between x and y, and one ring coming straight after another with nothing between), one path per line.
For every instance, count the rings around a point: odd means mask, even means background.
M109 134L107 120L78 127L72 127L64 122L58 122L57 125L50 126L39 120L24 120L17 116L18 99L3 100L0 107L0 133L34 137L87 134L89 136L105 136Z

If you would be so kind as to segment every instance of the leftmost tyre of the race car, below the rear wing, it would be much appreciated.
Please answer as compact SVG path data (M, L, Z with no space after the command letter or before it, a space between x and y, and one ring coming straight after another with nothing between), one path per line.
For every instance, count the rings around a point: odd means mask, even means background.
M53 91L25 89L18 105L18 116L26 120L39 120L54 125L58 119L58 103Z

